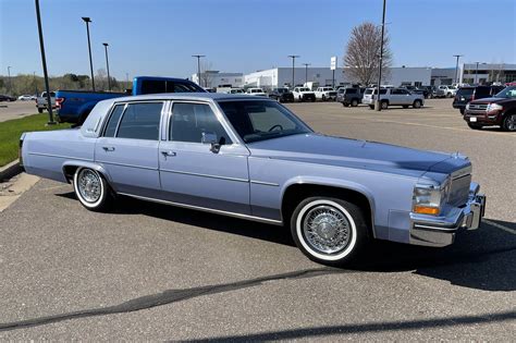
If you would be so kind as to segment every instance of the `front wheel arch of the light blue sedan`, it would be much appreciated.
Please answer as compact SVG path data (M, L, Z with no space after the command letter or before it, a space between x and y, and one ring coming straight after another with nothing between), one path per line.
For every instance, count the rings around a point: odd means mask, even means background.
M281 195L281 216L283 222L288 222L290 216L300 200L315 195L334 196L357 205L365 211L371 237L377 236L374 232L374 198L369 189L352 182L295 180L285 184Z

